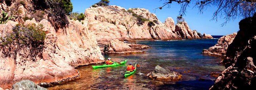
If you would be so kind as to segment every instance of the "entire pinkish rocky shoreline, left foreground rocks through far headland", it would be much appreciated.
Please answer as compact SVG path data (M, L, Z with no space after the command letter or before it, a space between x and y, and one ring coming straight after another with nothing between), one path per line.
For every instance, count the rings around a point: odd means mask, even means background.
M10 6L5 1L1 3L1 11L19 9L24 12L15 16L14 21L0 24L2 38L12 33L16 24L41 24L46 33L43 48L35 55L31 53L36 49L30 46L17 43L11 43L8 47L0 46L0 87L3 89L11 89L16 82L27 79L42 86L78 79L80 74L75 67L103 62L99 59L103 57L99 45L108 45L104 46L108 48L104 49L105 53L133 54L144 53L141 49L150 47L126 44L124 40L212 38L207 34L201 36L196 30L192 31L186 22L175 25L172 18L167 18L165 23L161 23L156 15L140 8L129 9L133 12L128 12L119 6L90 7L85 10L83 24L78 20L68 20L66 27L56 28L53 21L49 21L51 17L49 19L48 14L42 14L43 10L36 12L41 12L40 19L30 15L35 8L31 1L25 1L25 6L18 2ZM149 21L142 23L135 14ZM25 16L31 20L24 21Z

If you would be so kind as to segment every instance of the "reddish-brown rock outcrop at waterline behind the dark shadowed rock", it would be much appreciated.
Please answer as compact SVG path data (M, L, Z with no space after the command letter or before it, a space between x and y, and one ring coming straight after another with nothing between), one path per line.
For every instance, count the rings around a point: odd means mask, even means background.
M220 56L225 57L228 45L232 43L237 33L233 33L230 35L222 36L218 39L217 44L210 47L208 50L203 49L202 54L210 55L210 56Z

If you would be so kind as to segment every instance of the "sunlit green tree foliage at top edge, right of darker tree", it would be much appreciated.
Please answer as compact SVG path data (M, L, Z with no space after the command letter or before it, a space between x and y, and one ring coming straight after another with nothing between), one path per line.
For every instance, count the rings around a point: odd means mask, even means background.
M70 12L73 11L73 5L71 3L71 0L61 0L61 3L62 3L63 9L65 10L65 13L69 15Z

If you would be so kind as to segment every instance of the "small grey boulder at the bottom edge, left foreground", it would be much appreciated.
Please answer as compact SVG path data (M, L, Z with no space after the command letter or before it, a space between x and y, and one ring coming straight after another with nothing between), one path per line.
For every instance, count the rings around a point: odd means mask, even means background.
M44 87L36 85L30 80L21 80L13 85L13 90L48 90Z

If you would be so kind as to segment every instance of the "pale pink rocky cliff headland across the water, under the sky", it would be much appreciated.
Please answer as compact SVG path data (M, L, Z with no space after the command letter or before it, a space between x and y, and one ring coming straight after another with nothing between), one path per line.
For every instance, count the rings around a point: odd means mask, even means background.
M164 23L147 9L119 6L90 7L85 10L88 29L98 43L114 39L201 39L186 22L174 24L172 18ZM200 34L201 35L201 34ZM104 43L105 44L105 43Z

